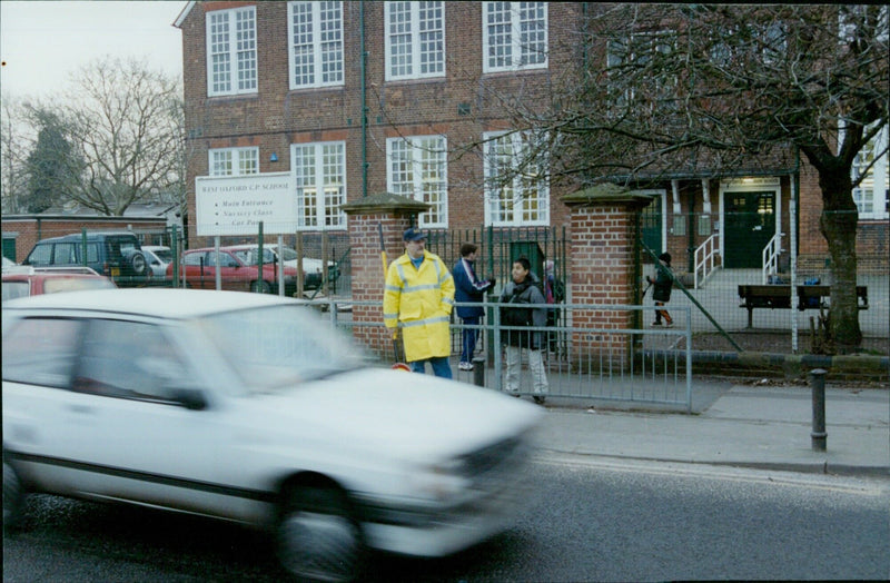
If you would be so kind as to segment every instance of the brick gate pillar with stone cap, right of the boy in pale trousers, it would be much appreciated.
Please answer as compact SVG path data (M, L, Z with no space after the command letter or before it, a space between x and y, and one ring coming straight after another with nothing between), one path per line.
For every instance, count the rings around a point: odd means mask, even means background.
M563 197L572 226L570 273L573 304L637 303L640 211L651 201L651 196L614 185L599 185ZM639 323L639 315L633 310L576 309L572 319L574 328L606 332L573 332L573 352L594 364L624 367L632 356L633 337L607 330L634 329Z

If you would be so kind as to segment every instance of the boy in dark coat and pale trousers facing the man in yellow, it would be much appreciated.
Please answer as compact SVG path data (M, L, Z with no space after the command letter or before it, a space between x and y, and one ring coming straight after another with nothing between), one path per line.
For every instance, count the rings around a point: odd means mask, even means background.
M513 263L511 275L513 280L501 294L501 325L508 327L534 326L534 330L504 330L502 340L506 344L507 374L506 392L520 396L520 372L522 369L522 350L528 352L528 369L532 372L532 387L535 403L544 403L548 385L544 372L544 333L541 328L547 324L546 298L541 290L541 281L532 274L532 264L526 257ZM532 307L536 304L540 307Z

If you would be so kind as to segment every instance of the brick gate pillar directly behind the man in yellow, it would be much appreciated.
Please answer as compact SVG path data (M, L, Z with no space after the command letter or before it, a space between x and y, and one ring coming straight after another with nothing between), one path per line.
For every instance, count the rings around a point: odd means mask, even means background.
M343 206L348 215L349 257L353 266L353 338L385 360L393 359L392 336L383 327L383 289L386 271L380 260L380 229L386 259L405 253L402 234L429 205L398 195L373 195ZM373 305L360 305L373 302Z

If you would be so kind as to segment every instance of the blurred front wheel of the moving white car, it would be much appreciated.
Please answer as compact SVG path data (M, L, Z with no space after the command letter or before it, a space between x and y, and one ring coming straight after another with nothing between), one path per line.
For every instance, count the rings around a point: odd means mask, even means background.
M354 581L364 555L362 528L336 490L298 488L285 500L278 557L299 580Z

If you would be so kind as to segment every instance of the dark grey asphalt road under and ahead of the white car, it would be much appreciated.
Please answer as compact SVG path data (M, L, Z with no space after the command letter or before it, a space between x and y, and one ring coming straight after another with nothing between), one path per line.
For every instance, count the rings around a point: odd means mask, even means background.
M455 556L376 554L368 581L890 577L890 481L538 457L505 534ZM141 508L32 496L3 581L280 581L267 535Z

